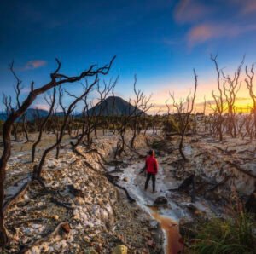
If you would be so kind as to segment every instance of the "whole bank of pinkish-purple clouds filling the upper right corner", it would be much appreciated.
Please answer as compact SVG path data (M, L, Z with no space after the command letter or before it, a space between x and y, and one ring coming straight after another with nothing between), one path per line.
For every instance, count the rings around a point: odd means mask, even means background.
M218 38L236 38L256 30L256 24L252 20L252 14L256 14L256 0L213 2L179 0L177 3L174 20L190 26L187 34L189 47ZM226 21L224 13L228 17L232 15L232 22Z

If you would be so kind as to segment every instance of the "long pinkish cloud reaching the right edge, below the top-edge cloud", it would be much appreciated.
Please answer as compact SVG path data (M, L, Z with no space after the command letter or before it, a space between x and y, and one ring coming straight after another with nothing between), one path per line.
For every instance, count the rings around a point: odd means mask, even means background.
M233 24L201 24L194 26L188 33L189 46L205 43L216 38L234 38L242 33L253 32L256 25L238 26Z

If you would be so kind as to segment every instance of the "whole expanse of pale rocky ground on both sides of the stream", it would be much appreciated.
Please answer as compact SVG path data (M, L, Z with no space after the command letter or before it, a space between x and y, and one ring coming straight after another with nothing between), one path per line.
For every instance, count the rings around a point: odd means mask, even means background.
M171 228L172 222L179 222L183 231L183 225L199 217L229 216L237 198L247 205L255 192L255 142L187 136L184 153L189 160L184 162L177 149L178 136L140 136L136 153L127 148L122 158L113 160L117 141L116 136L102 136L94 141L91 153L79 147L83 156L68 146L61 149L59 159L51 154L44 166L46 188L33 182L6 214L10 244L3 253L111 253L119 245L126 246L128 253L162 253L160 224L166 217L171 219ZM6 199L29 180L28 147L22 143L14 147ZM150 183L144 192L145 177L140 174L149 147L156 151L160 164L156 193L151 193ZM109 174L136 202L131 204L125 192L108 181ZM156 213L154 201L160 197L166 203ZM168 234L172 240L166 235L167 245L181 240L173 231Z

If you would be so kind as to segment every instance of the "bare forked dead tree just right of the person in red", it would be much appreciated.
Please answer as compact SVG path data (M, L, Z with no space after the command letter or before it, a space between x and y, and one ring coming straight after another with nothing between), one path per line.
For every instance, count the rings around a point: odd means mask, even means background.
M178 129L179 129L179 135L181 136L181 139L178 145L178 150L184 161L188 161L188 159L183 153L183 140L189 126L190 115L194 110L195 95L196 95L196 89L197 89L197 75L195 73L195 70L194 70L194 78L195 78L195 88L194 88L193 95L192 97L188 95L185 103L183 100L177 102L174 98L174 95L170 94L172 98L172 106L177 110Z

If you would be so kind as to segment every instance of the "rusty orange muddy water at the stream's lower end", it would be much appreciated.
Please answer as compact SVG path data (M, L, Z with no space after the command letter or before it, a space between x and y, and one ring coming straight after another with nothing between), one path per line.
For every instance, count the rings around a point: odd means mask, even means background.
M166 254L177 254L183 251L182 237L178 231L177 222L169 217L160 216L156 207L151 208L152 216L160 223L160 227L166 232Z

